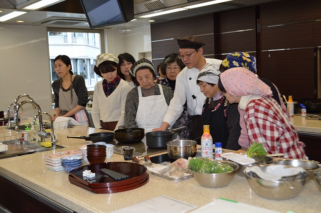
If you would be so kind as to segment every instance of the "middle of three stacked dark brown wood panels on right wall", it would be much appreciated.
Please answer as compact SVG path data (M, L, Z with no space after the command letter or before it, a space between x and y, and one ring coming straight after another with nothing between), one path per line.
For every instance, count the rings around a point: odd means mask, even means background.
M262 28L262 51L313 47L313 24L301 23Z

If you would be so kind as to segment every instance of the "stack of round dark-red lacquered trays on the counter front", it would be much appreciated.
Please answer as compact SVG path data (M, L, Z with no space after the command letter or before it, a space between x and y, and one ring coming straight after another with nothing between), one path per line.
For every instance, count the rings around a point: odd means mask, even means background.
M127 175L125 179L115 180L102 170ZM95 173L93 177L85 176L85 172ZM149 180L145 166L132 162L104 162L80 166L69 172L70 183L94 193L114 193L128 191L146 184Z

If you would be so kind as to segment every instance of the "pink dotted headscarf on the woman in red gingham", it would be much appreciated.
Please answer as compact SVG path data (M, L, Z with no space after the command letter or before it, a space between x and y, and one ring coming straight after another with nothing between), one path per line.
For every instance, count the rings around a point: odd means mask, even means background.
M256 77L254 73L242 67L224 71L221 73L220 79L225 90L234 96L272 95L269 86Z

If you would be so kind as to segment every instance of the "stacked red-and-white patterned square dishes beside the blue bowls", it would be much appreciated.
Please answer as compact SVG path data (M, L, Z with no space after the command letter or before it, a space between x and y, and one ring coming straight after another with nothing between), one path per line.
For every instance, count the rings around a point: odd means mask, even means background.
M68 151L63 151L63 152L58 152L58 153L53 153L53 154L47 154L45 156L46 166L50 170L54 170L54 171L64 170L64 167L61 165L61 158L62 157L71 157L71 156L81 156L82 157L82 152L77 151L77 150L68 150Z

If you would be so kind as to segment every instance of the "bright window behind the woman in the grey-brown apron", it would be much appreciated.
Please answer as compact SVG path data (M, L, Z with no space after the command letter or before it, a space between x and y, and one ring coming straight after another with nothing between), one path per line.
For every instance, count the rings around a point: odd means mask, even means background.
M48 29L51 83L59 79L54 66L55 58L67 55L74 75L83 76L88 91L93 91L95 84L102 80L94 72L96 57L102 52L101 38L102 31L99 30Z

